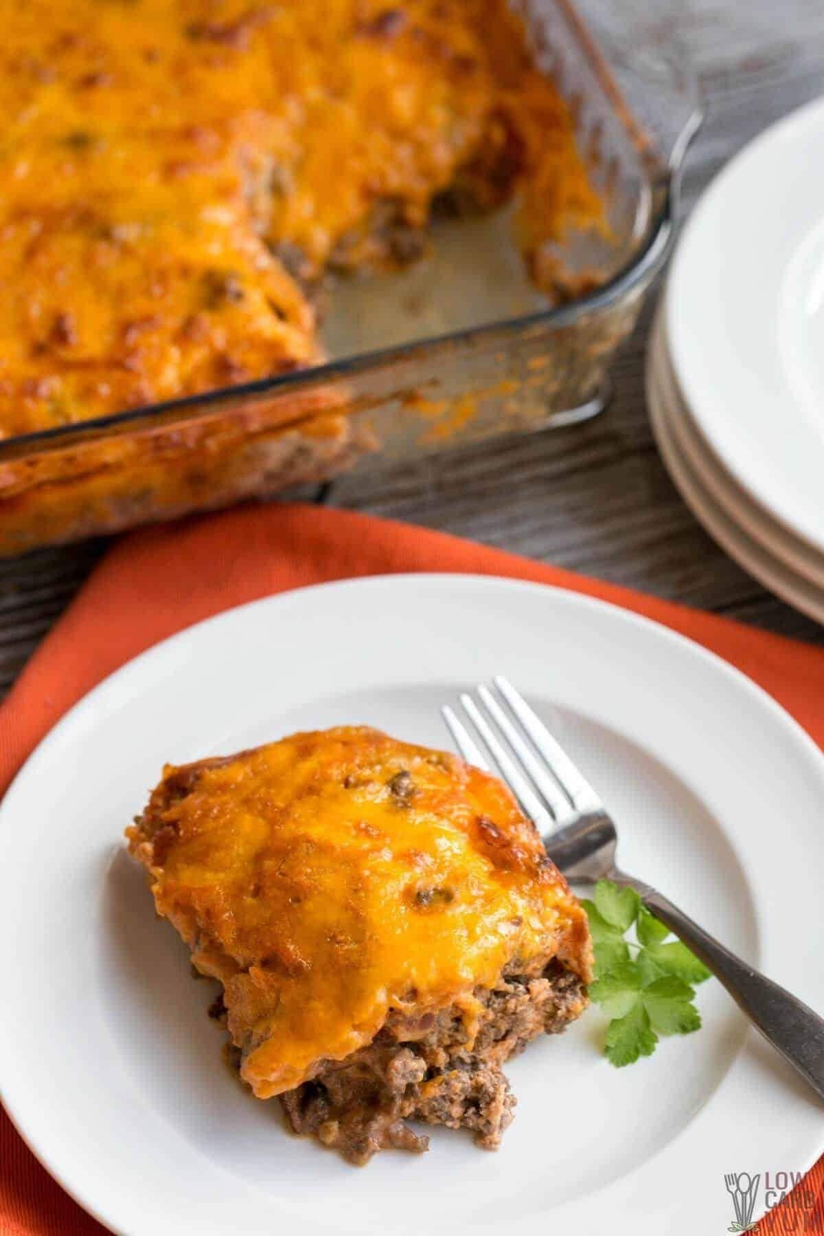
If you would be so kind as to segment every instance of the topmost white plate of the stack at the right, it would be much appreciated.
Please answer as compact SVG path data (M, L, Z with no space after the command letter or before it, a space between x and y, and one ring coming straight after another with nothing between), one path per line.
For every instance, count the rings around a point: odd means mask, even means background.
M824 100L751 142L684 227L665 299L684 400L751 501L824 552Z

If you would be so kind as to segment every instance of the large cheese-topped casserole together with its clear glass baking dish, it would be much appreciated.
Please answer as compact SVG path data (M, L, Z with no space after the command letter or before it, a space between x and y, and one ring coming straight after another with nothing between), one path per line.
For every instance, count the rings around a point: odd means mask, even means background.
M0 0L0 552L592 396L651 274L668 178L566 0ZM490 334L486 298L466 295L481 302L468 332L421 351L411 326L392 355L366 355L398 335L355 330L362 355L325 355L330 279L425 265L434 215L507 204L529 278L503 304L530 310L523 330ZM565 246L581 237L573 269ZM620 311L609 328L591 314L584 379L576 332L546 305L583 308L630 253ZM435 268L445 282L460 283Z

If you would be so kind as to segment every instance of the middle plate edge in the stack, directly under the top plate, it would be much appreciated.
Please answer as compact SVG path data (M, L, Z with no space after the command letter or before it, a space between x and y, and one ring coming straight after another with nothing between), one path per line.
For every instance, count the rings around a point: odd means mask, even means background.
M768 512L752 502L735 477L719 464L699 433L678 388L660 311L650 335L647 365L657 373L658 384L671 408L670 429L702 486L709 491L729 519L757 541L767 554L809 580L817 588L824 590L824 554L819 554L802 538L794 536L783 524L772 519Z

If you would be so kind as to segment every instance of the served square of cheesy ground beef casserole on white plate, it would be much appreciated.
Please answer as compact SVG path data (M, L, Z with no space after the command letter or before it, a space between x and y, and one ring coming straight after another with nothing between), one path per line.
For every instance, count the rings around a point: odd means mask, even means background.
M168 766L127 831L157 911L217 979L230 1056L355 1163L494 1148L504 1062L587 1004L587 917L495 777L367 727Z

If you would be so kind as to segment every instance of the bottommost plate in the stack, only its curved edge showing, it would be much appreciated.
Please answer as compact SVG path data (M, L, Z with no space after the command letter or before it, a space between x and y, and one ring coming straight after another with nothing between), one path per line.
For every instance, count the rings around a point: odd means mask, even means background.
M728 502L723 502L694 467L692 454L684 447L688 412L670 381L666 357L655 334L652 340L646 368L650 424L661 457L681 497L710 536L745 571L796 609L824 623L824 588L796 571L786 556L776 556L763 540L756 539L734 519L728 509L729 493Z

